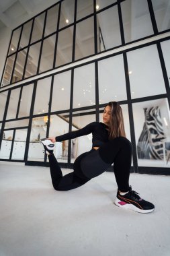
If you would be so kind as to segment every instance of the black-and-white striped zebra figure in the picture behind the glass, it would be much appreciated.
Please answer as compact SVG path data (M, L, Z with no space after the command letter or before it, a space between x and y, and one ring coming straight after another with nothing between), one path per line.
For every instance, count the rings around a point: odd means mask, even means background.
M137 154L140 159L163 160L163 125L159 106L144 108L144 125L138 139Z

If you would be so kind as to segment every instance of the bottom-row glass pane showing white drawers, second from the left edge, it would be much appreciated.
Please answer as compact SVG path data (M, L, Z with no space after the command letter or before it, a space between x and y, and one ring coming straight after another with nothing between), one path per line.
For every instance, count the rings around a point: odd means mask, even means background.
M14 160L24 160L26 148L27 129L19 129L15 131L13 143L12 158Z

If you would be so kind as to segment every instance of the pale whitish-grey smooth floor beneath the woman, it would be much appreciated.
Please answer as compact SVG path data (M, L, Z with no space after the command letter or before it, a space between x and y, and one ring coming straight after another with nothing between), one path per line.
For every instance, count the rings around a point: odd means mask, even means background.
M64 174L68 170L63 170ZM169 256L170 177L131 174L155 204L138 214L114 205L114 173L54 191L49 168L0 163L1 256Z

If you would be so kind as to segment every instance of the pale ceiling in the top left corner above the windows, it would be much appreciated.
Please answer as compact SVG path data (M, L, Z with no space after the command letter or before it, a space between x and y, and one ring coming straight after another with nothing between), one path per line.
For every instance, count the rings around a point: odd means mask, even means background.
M16 28L58 0L0 0L0 30Z

